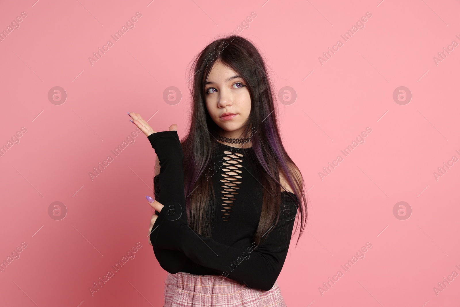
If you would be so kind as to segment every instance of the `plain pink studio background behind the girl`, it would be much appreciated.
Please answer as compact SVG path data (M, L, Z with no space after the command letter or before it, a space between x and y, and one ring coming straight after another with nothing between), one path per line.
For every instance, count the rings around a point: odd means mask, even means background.
M276 102L310 197L308 228L278 278L288 306L458 306L460 276L437 295L433 288L460 274L460 163L433 173L460 158L460 46L442 62L433 57L460 43L459 9L453 0L2 2L0 30L27 17L0 42L0 145L27 132L0 157L0 260L27 247L0 272L1 306L162 306L167 272L147 239L150 143L141 133L96 178L88 173L135 130L127 111L157 131L177 123L183 137L185 72L232 31L264 54L276 93L288 86L297 94ZM135 27L114 42L136 12ZM238 31L251 12L257 17ZM345 42L340 35L366 12L372 17ZM91 65L108 40L114 45ZM48 99L56 86L68 95L60 105ZM183 95L173 105L163 100L171 86ZM401 86L412 93L403 105L393 99ZM340 151L366 127L372 132L345 157ZM412 210L405 220L393 214L401 201ZM48 214L53 202L64 204L64 219ZM88 288L137 242L135 258L92 296Z

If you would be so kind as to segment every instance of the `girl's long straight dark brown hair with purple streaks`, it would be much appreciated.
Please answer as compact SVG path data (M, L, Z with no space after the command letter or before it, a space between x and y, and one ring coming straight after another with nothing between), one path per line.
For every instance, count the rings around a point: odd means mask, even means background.
M190 130L181 141L184 150L184 192L189 226L195 232L211 237L213 204L217 198L212 181L209 180L209 172L212 169L211 156L217 143L219 126L207 112L204 93L207 77L218 60L242 77L251 97L251 112L241 137L252 137L263 185L262 211L253 242L258 245L262 243L265 235L274 228L272 226L286 213L282 212L285 210L280 210L280 172L284 174L295 194L293 197L288 193L299 209L294 213L291 211L290 214L292 216L300 213L296 215L297 222L300 221L301 225L300 237L307 220L304 181L299 168L282 145L273 103L273 87L264 60L253 43L239 35L224 36L207 45L193 60L189 72L189 81L192 80L189 83L192 93Z

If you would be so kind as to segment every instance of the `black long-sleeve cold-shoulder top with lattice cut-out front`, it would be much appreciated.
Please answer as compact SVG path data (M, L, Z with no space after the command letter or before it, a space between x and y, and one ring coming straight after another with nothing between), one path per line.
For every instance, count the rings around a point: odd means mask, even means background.
M208 180L219 201L213 204L212 237L204 237L187 225L184 154L177 132L157 132L148 139L161 167L154 178L155 199L165 206L150 234L160 265L170 273L222 274L248 287L270 290L288 253L299 207L295 194L281 192L280 218L257 246L252 241L262 209L257 158L252 148L217 143L212 155L214 174Z

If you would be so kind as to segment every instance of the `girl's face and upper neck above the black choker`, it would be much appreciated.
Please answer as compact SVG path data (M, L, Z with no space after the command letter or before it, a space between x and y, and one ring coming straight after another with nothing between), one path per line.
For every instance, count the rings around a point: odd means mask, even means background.
M251 97L246 82L224 66L220 60L213 64L205 83L206 108L213 121L224 131L222 136L240 138L251 112ZM226 114L234 114L225 116Z

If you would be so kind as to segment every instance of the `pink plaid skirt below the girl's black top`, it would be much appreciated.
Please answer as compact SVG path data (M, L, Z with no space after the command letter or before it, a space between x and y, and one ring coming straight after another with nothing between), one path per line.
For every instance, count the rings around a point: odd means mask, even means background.
M286 307L278 281L268 290L220 275L168 273L163 307Z

